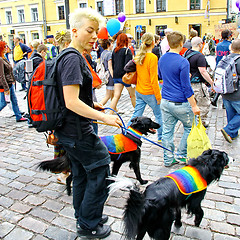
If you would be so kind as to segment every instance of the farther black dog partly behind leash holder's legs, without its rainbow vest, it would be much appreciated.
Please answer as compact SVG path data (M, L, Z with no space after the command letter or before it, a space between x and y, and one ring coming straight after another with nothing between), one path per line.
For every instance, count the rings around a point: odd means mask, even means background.
M119 154L117 153L113 154L110 152L111 161L113 161L112 175L117 175L122 164L127 161L130 161L129 167L133 168L137 180L141 184L146 184L148 181L142 179L141 173L140 173L140 167L139 167L140 158L141 158L140 147L142 144L142 141L140 140L139 136L141 137L142 134L147 135L148 133L154 134L156 132L155 129L158 129L160 125L156 122L153 122L148 117L136 117L136 118L133 118L131 122L132 124L129 130L132 129L133 131L129 131L129 132L127 131L126 137L128 139L131 139L135 143L136 145L135 150L119 153ZM51 171L54 173L59 173L66 170L70 171L70 160L68 159L67 154L65 154L62 157L39 163L38 168L46 171ZM71 182L72 182L72 175L70 174L66 180L67 192L69 195L71 193L71 187L70 187Z

